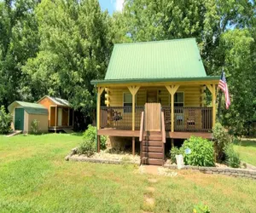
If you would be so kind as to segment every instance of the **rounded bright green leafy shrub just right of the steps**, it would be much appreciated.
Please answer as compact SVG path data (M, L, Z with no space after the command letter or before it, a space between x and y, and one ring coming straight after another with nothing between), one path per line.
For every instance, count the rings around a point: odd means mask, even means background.
M184 164L213 166L214 151L212 141L201 137L191 136L189 140L183 142L180 153L183 154Z

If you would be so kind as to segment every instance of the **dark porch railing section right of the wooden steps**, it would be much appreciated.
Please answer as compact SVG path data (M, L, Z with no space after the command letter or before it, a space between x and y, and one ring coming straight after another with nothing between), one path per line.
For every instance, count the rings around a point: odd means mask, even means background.
M171 107L162 107L166 131L171 130ZM212 107L174 107L174 131L212 130Z

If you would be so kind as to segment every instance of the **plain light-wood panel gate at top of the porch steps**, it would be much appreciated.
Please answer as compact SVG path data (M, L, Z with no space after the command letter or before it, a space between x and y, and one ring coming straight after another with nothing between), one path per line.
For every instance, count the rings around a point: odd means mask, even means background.
M161 105L160 103L145 104L145 130L160 131L161 130Z

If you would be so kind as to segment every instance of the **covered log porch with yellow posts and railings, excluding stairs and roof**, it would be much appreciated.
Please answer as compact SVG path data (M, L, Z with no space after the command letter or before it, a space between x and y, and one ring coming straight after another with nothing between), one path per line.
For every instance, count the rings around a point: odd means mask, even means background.
M173 139L187 139L191 135L212 139L217 84L216 78L204 78L201 81L175 84L160 82L99 85L97 135L131 137L134 147L135 137L140 134L144 105L148 102L159 102L161 112L164 113L166 138L171 138L172 146ZM210 105L205 101L207 89L212 94ZM130 102L125 100L127 92L131 94ZM181 93L183 99L177 102L177 94ZM101 101L103 97L105 105Z

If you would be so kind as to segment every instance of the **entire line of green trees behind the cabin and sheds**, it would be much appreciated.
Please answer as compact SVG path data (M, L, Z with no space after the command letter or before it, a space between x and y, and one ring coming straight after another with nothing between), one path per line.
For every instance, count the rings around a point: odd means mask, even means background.
M0 106L52 95L90 115L90 80L104 78L114 43L195 37L207 74L226 72L219 118L241 134L256 119L255 11L254 0L126 0L113 14L97 0L0 1Z

